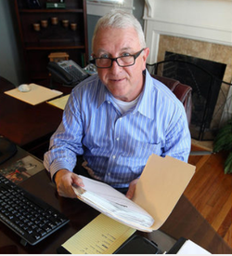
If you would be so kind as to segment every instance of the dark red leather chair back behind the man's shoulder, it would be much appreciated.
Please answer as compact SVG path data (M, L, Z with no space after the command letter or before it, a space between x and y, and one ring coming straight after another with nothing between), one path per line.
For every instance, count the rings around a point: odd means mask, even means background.
M151 74L151 76L159 80L167 88L170 88L173 91L176 98L183 103L187 114L187 123L189 126L192 113L192 88L188 87L187 85L181 84L178 80L172 78L160 76L157 74Z

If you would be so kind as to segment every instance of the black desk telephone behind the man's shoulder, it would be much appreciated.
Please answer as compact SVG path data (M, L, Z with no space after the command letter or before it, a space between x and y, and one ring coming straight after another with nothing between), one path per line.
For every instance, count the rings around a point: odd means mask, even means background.
M74 87L89 76L77 63L71 60L51 61L48 63L47 69L51 73L52 79L67 87Z

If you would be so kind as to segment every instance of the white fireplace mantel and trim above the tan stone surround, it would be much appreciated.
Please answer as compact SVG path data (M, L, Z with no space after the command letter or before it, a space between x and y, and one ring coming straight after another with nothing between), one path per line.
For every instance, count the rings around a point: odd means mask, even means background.
M160 34L232 46L231 0L145 0L148 62L156 62Z

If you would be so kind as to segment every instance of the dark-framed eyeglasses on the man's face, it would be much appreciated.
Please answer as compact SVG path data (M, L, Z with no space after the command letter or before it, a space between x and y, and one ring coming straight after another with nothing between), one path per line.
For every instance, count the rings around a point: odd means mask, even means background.
M106 69L106 68L110 68L112 66L113 61L116 61L117 64L120 67L129 67L129 66L133 66L135 64L135 60L137 59L137 57L141 54L141 52L144 50L144 48L142 48L140 51L138 51L136 54L130 54L130 55L126 55L126 56L120 56L117 58L95 58L93 60L91 60L90 62L95 64L97 66L97 68L100 69Z

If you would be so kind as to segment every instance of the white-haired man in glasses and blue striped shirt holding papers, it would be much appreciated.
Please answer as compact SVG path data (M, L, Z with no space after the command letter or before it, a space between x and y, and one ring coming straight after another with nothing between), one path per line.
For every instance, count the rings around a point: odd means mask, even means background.
M83 156L86 176L129 198L149 155L187 162L185 109L169 88L148 74L148 53L133 15L112 10L98 20L92 54L97 75L73 88L45 153L45 168L59 195L75 197L71 184L84 186L78 176L81 168L75 168L78 155Z

